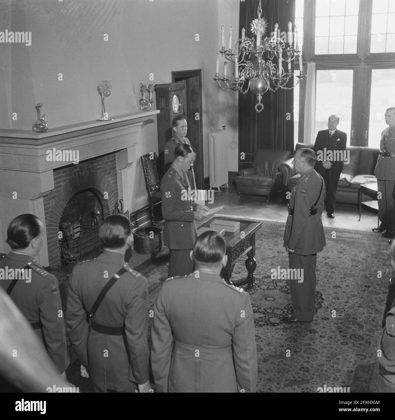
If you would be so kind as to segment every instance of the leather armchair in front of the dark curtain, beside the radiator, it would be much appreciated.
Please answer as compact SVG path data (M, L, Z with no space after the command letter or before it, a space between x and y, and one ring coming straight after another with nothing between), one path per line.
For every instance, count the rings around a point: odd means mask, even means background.
M279 164L291 157L289 150L257 149L251 168L239 171L236 176L239 194L270 195L282 189L282 173Z

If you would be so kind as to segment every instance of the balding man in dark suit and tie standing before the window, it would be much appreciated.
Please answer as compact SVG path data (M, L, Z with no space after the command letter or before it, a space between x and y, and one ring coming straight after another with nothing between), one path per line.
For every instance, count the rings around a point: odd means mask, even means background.
M328 119L328 129L319 131L314 144L317 161L314 169L324 178L327 191L327 215L334 218L334 203L337 184L343 170L347 134L337 130L339 117L331 115Z

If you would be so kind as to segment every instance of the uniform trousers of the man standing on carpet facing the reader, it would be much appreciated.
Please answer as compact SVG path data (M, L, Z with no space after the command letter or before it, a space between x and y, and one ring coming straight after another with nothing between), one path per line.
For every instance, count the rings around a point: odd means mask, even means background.
M290 280L292 315L300 321L311 321L314 317L316 303L316 265L317 254L288 254L290 268L303 269L303 282Z

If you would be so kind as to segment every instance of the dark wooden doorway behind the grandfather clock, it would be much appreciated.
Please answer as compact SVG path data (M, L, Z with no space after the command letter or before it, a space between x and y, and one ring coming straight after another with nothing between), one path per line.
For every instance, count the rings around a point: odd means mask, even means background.
M185 84L186 104L185 118L188 123L187 137L196 149L195 178L196 187L203 189L203 105L202 105L202 70L172 71L171 81L182 81ZM197 118L198 115L198 119Z

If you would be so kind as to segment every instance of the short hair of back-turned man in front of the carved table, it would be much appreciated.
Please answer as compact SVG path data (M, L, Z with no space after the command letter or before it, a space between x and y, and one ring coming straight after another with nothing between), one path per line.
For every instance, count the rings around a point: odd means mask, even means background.
M210 264L222 260L226 252L226 242L215 231L207 231L201 234L193 247L195 261Z

